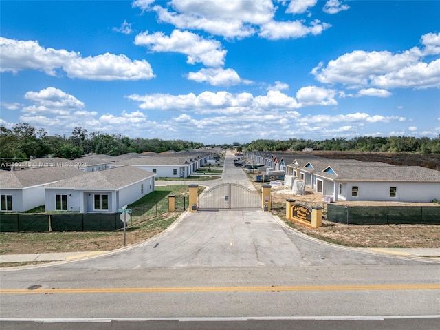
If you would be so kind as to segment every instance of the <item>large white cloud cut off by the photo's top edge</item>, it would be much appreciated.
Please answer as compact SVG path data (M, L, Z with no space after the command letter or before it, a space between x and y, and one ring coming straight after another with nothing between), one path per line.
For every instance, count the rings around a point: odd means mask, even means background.
M292 1L286 12L304 12L315 6L316 0ZM304 21L274 21L276 7L271 0L172 0L164 6L143 6L153 10L159 21L182 30L203 30L227 39L243 39L259 33L267 39L287 39L320 34L331 25L318 20L307 25Z

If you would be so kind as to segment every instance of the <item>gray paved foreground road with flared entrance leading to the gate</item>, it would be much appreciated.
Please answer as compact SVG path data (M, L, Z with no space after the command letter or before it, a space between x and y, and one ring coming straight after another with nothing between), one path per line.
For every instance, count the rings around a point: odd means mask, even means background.
M3 319L419 316L429 326L440 315L439 262L321 243L259 210L188 214L118 253L0 276Z

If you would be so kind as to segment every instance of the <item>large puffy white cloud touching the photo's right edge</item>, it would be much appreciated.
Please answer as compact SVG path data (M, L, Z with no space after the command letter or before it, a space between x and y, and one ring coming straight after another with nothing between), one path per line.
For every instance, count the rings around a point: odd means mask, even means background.
M422 61L424 56L440 54L440 34L423 34L420 42L423 49L413 47L395 54L355 50L327 65L319 63L311 73L321 83L361 88L358 96L388 97L391 94L386 90L391 88L440 87L440 59Z

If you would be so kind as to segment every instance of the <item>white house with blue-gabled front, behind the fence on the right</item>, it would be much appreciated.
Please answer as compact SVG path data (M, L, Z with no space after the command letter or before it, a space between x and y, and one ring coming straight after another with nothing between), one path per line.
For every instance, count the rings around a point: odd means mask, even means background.
M355 160L296 160L287 174L331 200L431 202L440 199L440 171Z

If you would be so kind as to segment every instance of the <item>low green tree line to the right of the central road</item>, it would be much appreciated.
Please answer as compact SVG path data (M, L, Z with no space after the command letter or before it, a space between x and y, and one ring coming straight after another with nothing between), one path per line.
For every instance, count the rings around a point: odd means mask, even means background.
M331 138L322 141L290 138L289 140L255 140L241 144L246 150L258 151L300 151L306 148L329 151L358 152L417 152L421 154L440 154L440 135L437 138L415 138L413 136L372 137L360 136Z

